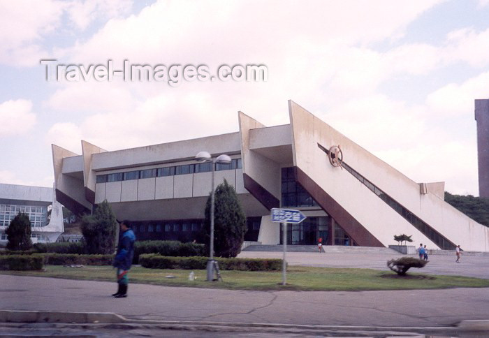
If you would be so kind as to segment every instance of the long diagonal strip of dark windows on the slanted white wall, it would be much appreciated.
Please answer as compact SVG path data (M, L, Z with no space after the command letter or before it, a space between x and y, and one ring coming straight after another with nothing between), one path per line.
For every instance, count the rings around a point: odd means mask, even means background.
M328 149L324 148L323 146L319 145L318 147L323 150L323 152L326 152L326 154L329 153ZM391 198L391 196L388 196L384 191L381 191L377 186L375 186L372 182L370 182L368 179L360 175L359 172L348 166L346 163L342 163L342 167L349 172L353 177L358 179L363 185L367 186L370 191L375 193L381 200L383 200L387 205L397 214L400 214L404 219L406 219L411 225L413 225L415 228L421 231L426 237L428 237L432 242L437 244L437 246L440 249L443 250L455 250L455 244L447 240L443 235L437 232L437 230L433 229L431 226L429 226L427 223L422 221L421 219L418 218L415 214L407 210L405 207L403 207L400 203L398 203L396 200Z

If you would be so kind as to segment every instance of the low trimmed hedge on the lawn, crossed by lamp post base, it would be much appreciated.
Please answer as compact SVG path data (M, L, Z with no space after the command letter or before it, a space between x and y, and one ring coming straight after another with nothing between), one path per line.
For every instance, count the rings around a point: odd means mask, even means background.
M281 259L263 258L215 258L221 270L273 271L282 269ZM207 257L168 257L159 254L143 254L139 263L149 269L205 270Z

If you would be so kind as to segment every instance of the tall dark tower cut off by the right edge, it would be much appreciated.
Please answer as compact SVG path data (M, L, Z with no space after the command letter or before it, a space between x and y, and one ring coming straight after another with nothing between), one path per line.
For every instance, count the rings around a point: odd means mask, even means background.
M479 196L489 198L489 100L475 100Z

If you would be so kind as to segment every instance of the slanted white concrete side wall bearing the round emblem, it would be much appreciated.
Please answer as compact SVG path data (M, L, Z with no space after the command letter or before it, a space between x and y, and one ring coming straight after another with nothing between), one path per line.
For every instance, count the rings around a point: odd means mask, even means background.
M289 107L294 164L386 247L388 244L395 244L393 235L406 233L413 235L414 242L423 242L430 249L437 248L353 175L331 166L328 156L317 146L318 142L326 149L341 145L343 159L349 166L451 242L460 244L465 250L488 250L486 227L475 222L470 223L467 216L430 192L421 195L416 182L377 159L299 105L291 102Z

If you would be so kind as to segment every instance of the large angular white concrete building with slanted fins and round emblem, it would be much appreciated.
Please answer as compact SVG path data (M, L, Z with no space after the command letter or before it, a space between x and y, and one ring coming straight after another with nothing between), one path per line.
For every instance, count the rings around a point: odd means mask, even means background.
M264 126L238 113L239 131L107 152L82 140L82 154L52 145L57 200L75 214L108 200L138 239L189 241L203 223L210 163L227 154L215 184L235 186L247 214L245 240L280 244L273 207L302 210L289 244L387 247L412 235L430 249L489 251L489 228L444 202L444 183L416 183L293 101L290 123Z

